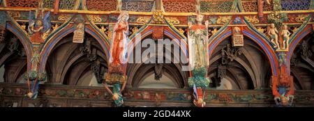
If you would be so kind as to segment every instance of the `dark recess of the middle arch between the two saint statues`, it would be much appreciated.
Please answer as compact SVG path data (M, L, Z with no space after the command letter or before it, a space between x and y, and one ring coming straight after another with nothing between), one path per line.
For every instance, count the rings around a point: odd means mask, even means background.
M146 41L146 39L150 39L151 35L148 35L146 38L142 39L142 41ZM174 44L174 40L170 40L167 35L164 35L165 40L169 40L167 42L172 43L170 45L171 47L165 47L165 45L157 45L158 40L151 40L154 44L156 44L156 54L149 55L148 58L143 58L141 55L143 51L147 51L149 47L142 47L139 50L133 51L137 53L137 51L142 51L140 54L140 61L134 54L130 54L130 58L128 60L128 66L126 67L126 75L128 76L127 80L127 86L131 86L133 88L138 88L142 86L142 83L147 84L147 80L150 81L150 83L161 83L161 81L158 82L158 80L166 79L168 81L172 81L172 88L184 88L187 87L187 79L188 79L188 71L183 71L184 66L187 66L187 63L182 63L180 59L186 59L182 58L184 57L184 52L179 49L180 54L174 54L174 46L177 46ZM161 40L159 40L161 41ZM168 44L170 44L168 43ZM137 45L141 45L141 42L137 43ZM162 51L158 51L160 48L163 48ZM138 55L137 55L138 56ZM156 60L160 59L163 60L162 63L158 63ZM132 60L130 60L132 59ZM154 62L156 63L154 63ZM153 62L153 63L149 63ZM155 77L152 78L154 75ZM163 78L163 76L165 78ZM151 79L152 78L152 79ZM163 78L163 79L162 79ZM152 80L152 81L151 81ZM144 81L144 82L143 82ZM156 88L156 87L155 87ZM162 87L159 87L162 88Z

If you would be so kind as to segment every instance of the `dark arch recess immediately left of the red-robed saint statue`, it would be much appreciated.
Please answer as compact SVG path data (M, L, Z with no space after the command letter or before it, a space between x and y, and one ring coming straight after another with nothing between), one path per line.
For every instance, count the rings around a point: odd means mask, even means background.
M48 83L76 86L82 83L80 80L84 76L91 74L101 83L103 74L107 71L107 56L103 47L87 33L82 44L73 43L72 40L73 33L70 33L54 45L45 68Z

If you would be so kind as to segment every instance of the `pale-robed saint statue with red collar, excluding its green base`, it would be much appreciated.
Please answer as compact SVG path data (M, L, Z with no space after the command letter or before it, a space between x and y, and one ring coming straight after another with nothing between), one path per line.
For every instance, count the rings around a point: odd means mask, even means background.
M204 16L198 14L195 18L196 23L188 22L188 49L190 66L207 65L207 42L209 21L202 24Z

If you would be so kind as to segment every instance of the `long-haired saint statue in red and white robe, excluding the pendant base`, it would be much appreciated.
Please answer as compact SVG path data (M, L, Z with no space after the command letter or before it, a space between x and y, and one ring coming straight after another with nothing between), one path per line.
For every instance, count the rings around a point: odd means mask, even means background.
M112 31L110 47L110 65L117 67L124 63L126 58L126 45L128 44L128 13L122 11Z

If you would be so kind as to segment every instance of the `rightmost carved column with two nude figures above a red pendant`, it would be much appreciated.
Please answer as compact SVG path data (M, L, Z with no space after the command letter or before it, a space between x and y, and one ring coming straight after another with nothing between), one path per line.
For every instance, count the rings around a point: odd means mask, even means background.
M272 91L276 106L292 106L294 98L293 77L290 76L290 65L287 61L291 33L283 22L287 14L281 13L281 1L272 0L273 12L267 15L269 41L278 56L278 74L271 77Z

